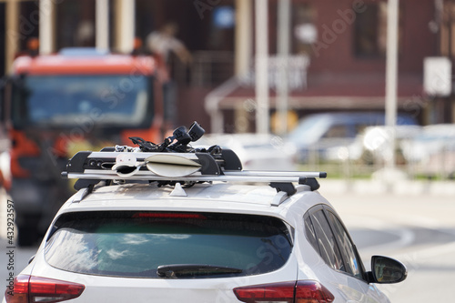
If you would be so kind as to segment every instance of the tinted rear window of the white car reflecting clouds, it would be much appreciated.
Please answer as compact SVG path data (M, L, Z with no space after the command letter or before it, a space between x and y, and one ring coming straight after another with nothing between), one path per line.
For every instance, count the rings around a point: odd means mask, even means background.
M221 278L277 270L291 249L289 228L277 217L86 212L58 218L45 259L55 268L83 274Z

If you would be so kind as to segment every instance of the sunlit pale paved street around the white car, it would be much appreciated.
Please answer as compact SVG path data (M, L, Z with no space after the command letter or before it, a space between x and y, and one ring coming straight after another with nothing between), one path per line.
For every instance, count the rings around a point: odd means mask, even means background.
M406 281L380 288L391 302L442 302L455 298L455 197L412 190L384 193L364 185L346 191L336 183L321 181L321 194L329 199L344 219L358 244L367 268L372 255L398 258L408 267ZM408 188L410 189L410 188ZM450 189L448 189L450 190ZM0 277L6 283L9 271L5 240L5 197L0 203L2 237ZM25 268L36 247L15 248L15 274Z

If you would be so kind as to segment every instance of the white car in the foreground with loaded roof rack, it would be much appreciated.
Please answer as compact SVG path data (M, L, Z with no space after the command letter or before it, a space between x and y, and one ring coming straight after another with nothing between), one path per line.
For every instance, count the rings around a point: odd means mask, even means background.
M200 169L180 169L191 161ZM404 280L406 268L375 256L365 271L317 191L324 174L236 163L219 150L76 154L65 176L80 189L4 303L389 302L375 284ZM237 184L245 180L269 186Z

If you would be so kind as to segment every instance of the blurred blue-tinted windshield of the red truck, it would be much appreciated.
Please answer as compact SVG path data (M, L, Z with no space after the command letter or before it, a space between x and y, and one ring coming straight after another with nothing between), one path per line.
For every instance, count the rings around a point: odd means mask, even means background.
M149 114L150 79L130 75L25 76L15 86L15 123L140 126ZM147 115L149 114L149 115Z

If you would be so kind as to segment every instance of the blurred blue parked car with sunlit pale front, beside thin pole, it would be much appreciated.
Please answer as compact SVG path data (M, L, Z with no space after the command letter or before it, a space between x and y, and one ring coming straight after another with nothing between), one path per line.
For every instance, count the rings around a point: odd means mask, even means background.
M329 149L350 146L366 127L385 125L385 114L322 113L304 117L289 134L288 141L297 147L298 161L330 160ZM409 115L399 114L397 125L417 125Z

